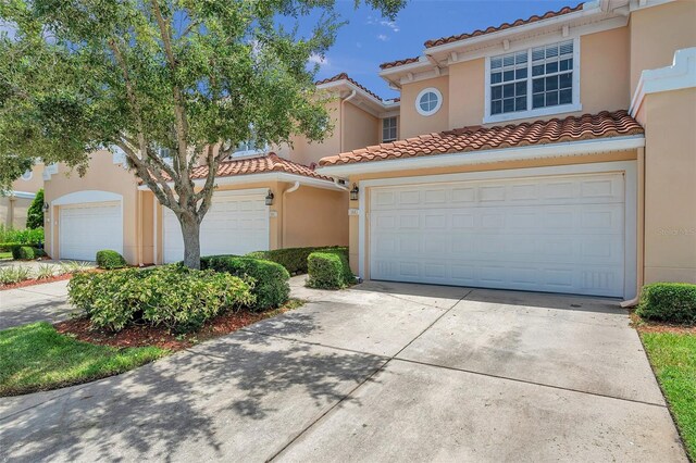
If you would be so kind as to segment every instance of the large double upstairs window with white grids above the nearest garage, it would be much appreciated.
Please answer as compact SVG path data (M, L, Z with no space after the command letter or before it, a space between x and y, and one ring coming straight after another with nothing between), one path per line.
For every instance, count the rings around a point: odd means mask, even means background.
M484 122L580 110L576 48L567 40L492 57Z

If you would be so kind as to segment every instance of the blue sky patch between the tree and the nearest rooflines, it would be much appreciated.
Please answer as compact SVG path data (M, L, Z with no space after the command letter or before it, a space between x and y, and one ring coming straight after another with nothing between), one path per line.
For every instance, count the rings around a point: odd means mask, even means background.
M574 7L579 2L410 0L390 22L365 7L355 10L352 0L338 0L338 9L349 24L338 32L336 43L326 53L316 77L321 79L347 72L382 98L393 98L398 93L377 76L381 63L419 55L427 39L497 26L549 10Z

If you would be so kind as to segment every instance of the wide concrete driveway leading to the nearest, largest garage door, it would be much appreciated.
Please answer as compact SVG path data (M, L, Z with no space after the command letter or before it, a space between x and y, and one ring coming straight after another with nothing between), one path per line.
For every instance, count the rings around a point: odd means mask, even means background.
M3 460L686 461L626 313L399 284L125 375L0 399Z

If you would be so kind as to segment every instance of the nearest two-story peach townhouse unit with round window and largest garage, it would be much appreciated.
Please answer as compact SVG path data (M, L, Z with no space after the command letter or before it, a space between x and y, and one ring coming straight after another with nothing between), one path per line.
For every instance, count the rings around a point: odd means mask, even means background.
M696 283L696 2L600 0L382 64L399 140L347 179L365 279L632 299Z

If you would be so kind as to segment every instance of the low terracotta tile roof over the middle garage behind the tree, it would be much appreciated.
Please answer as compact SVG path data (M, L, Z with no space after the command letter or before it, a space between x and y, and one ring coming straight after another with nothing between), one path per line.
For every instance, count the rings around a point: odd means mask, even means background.
M215 177L231 177L233 175L250 175L266 174L270 172L285 172L287 174L302 175L306 177L318 178L321 180L332 182L331 178L319 175L314 170L288 161L275 153L269 153L259 158L239 159L220 163ZM191 178L206 178L208 175L208 166L200 165L194 168Z

